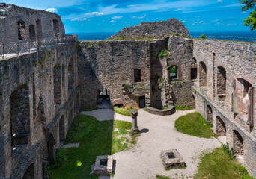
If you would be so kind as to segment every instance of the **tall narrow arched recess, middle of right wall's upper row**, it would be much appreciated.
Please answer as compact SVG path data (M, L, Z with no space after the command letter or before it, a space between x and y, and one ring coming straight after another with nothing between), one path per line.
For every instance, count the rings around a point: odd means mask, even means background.
M217 94L219 101L225 101L226 97L226 85L227 84L227 74L226 70L222 66L218 66L217 70Z

